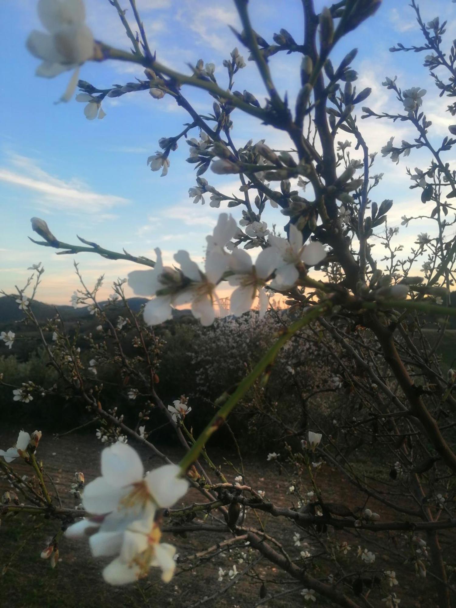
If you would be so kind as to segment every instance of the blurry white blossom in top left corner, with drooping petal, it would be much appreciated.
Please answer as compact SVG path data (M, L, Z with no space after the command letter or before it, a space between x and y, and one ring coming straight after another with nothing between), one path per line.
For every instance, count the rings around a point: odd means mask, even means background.
M43 63L37 76L54 78L73 69L73 75L61 101L67 102L74 93L79 66L94 55L94 37L85 24L82 0L40 0L38 16L49 33L33 30L27 38L27 49Z

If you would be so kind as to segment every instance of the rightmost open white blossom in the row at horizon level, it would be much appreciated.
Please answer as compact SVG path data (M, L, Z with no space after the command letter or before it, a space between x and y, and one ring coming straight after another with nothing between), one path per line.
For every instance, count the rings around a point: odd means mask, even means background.
M298 268L302 267L303 263L306 266L314 266L326 257L325 248L317 241L303 246L302 232L294 224L289 225L288 240L271 234L268 243L277 251L280 259L271 283L275 289L292 287L299 278Z

